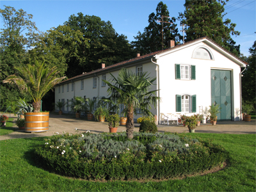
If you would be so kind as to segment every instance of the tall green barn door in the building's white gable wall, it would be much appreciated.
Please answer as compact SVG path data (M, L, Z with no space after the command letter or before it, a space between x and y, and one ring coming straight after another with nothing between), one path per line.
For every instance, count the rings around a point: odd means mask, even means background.
M231 120L231 72L211 70L211 103L220 104L218 120Z

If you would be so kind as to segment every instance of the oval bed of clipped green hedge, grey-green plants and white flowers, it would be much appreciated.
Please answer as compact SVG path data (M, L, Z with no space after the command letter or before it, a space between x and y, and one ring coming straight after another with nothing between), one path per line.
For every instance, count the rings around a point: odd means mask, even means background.
M47 170L100 180L163 179L202 172L228 157L220 146L175 134L56 134L36 147ZM147 141L147 142L145 142Z

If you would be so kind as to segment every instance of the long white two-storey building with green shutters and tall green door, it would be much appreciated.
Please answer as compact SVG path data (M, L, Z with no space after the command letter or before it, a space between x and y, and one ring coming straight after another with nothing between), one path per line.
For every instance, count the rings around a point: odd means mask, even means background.
M204 113L209 106L220 104L218 120L241 120L241 71L246 62L223 49L210 38L198 38L163 51L138 56L92 72L72 77L55 86L55 102L68 102L74 96L86 98L108 97L108 86L102 81L110 74L118 75L121 68L136 73L147 71L157 77L152 90L159 90L161 102L152 113L159 123L164 114L175 115ZM241 70L242 68L242 70ZM82 73L82 72L81 72ZM70 109L65 106L64 113ZM138 118L140 115L134 116Z

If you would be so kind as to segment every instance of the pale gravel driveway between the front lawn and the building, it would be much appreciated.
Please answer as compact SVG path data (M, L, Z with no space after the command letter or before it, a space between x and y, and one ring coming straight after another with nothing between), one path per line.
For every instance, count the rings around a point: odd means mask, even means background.
M6 114L12 118L17 118L12 114ZM135 124L134 131L139 131L140 124ZM81 118L75 118L74 115L57 115L56 113L50 113L49 118L49 131L46 132L25 132L24 130L17 129L10 134L0 136L0 140L10 140L16 138L32 138L32 137L44 137L52 136L53 133L59 132L86 132L92 133L109 132L108 122L95 122L88 121L83 116ZM77 129L77 131L76 131ZM157 125L158 132L189 132L188 128L183 125ZM125 131L125 126L119 126L117 132ZM201 124L196 127L195 132L212 132L212 133L226 133L226 134L255 134L256 133L256 121L251 122L217 122L217 125Z

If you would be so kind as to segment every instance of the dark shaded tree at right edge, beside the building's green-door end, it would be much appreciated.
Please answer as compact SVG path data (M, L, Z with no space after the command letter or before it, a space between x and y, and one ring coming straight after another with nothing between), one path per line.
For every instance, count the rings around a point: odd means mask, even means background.
M243 73L242 77L242 97L243 101L253 104L256 109L256 41L249 49L250 56L248 57L249 66Z

